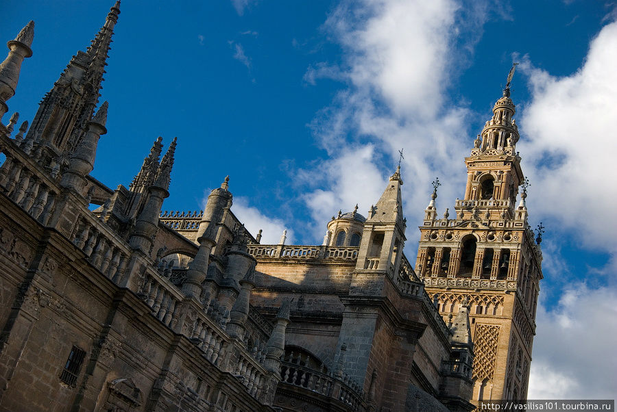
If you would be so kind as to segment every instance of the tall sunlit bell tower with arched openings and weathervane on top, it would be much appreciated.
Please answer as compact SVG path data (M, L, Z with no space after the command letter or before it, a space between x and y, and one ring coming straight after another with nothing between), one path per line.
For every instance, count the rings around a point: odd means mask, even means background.
M520 136L509 87L515 66L493 116L465 157L465 196L457 199L452 218L449 209L437 217L439 181L433 182L416 261L416 272L446 322L469 308L476 404L527 398L542 279L543 228L540 224L535 237L527 223L529 182L516 151Z

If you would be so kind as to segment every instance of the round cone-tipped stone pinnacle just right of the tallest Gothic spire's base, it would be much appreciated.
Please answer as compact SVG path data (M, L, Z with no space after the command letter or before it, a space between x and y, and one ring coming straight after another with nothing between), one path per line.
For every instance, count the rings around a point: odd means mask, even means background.
M95 157L97 155L97 145L101 135L107 133L105 123L107 122L108 103L105 101L98 112L88 122L88 132L82 141L77 145L77 149L69 160L69 170L62 176L62 185L71 188L77 193L81 193L86 181L84 177L92 172Z

